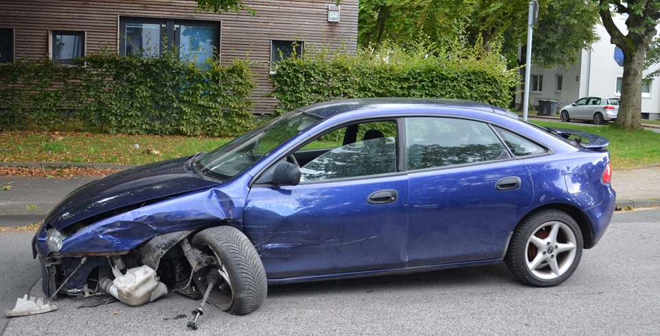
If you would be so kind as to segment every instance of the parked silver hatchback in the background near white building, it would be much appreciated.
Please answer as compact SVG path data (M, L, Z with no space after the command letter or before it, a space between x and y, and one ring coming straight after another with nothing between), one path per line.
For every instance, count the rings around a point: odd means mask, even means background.
M598 125L615 121L619 113L619 99L607 97L585 97L561 108L561 121L571 119L591 120Z

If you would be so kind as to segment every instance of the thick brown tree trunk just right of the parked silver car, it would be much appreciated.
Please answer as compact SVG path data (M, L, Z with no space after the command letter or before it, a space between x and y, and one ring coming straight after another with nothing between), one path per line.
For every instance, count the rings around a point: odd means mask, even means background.
M644 71L644 48L624 55L624 75L616 125L627 130L641 128L641 80Z

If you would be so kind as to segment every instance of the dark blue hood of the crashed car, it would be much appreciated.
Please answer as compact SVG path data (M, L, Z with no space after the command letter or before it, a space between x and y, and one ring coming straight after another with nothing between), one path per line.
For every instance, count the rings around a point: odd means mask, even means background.
M46 217L48 226L61 230L90 217L160 197L186 193L220 182L204 180L177 158L143 165L85 184L67 195ZM99 220L102 217L98 218Z

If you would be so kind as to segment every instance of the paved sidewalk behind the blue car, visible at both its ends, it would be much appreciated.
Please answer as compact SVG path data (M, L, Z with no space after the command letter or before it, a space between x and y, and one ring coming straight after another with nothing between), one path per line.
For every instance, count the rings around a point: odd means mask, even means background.
M124 167L125 168L125 167ZM46 217L51 209L71 191L97 179L0 177L0 227L25 226ZM619 208L660 206L660 165L613 171L612 186Z

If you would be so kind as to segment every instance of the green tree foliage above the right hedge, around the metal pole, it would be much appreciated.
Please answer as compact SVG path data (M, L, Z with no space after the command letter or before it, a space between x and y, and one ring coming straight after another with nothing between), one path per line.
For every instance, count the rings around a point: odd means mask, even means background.
M598 40L595 2L541 0L539 14L532 60L541 67L575 64L581 51ZM442 48L462 39L471 45L482 43L487 50L501 43L511 68L520 67L526 57L528 1L360 0L359 15L358 45L363 47L385 41L405 46L426 38ZM523 78L524 71L521 68Z

